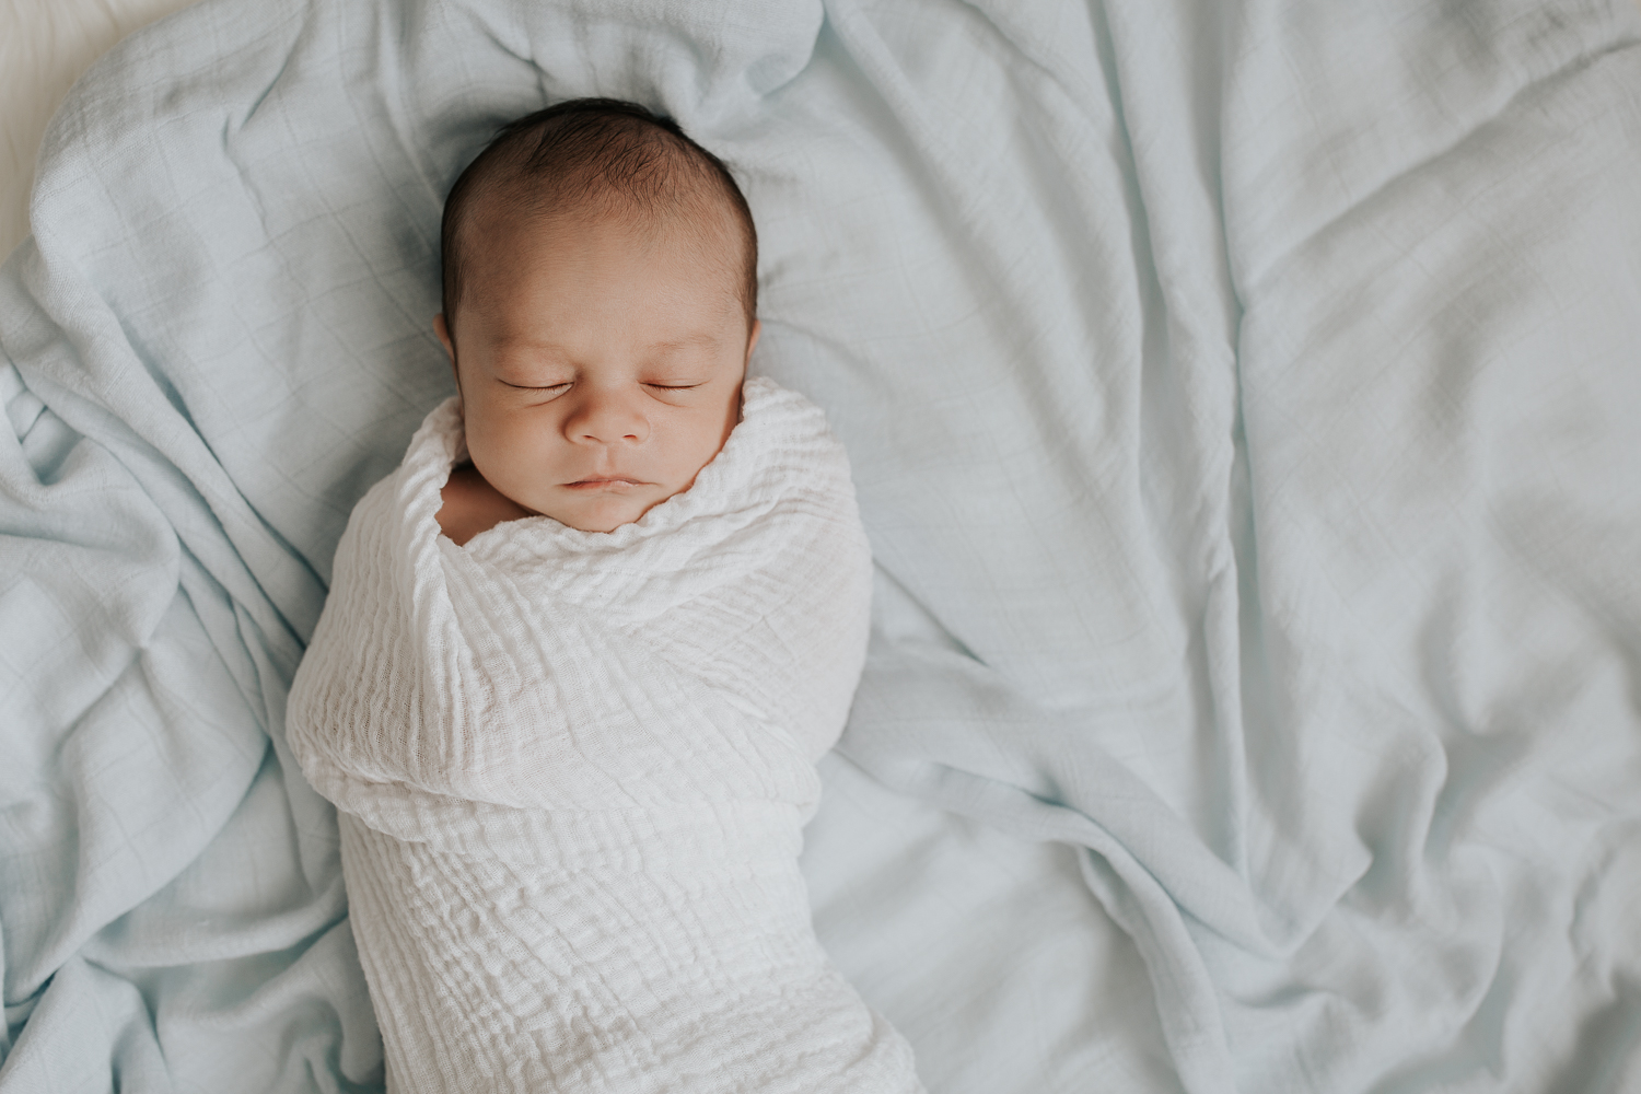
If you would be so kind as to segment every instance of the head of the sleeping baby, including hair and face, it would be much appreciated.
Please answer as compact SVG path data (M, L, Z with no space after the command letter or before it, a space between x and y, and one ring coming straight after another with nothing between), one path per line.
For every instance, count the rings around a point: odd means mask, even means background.
M670 120L573 100L505 126L445 202L445 312L473 466L610 531L689 489L740 417L758 243Z

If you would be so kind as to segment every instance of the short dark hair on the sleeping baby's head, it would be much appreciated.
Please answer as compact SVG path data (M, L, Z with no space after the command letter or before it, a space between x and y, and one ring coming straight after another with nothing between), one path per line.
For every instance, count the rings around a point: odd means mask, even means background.
M505 187L525 215L591 205L597 212L656 218L702 189L729 202L743 236L738 287L747 325L758 310L758 233L734 175L676 121L619 98L569 98L509 121L456 179L440 228L445 323L455 325L468 267L463 228L486 189Z

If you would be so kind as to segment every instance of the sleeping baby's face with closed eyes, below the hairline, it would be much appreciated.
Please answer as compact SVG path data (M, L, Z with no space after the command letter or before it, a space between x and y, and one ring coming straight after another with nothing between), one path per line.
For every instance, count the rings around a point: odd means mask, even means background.
M473 235L455 330L435 326L492 487L583 531L689 489L735 428L758 335L734 264L702 258L715 243L594 218Z

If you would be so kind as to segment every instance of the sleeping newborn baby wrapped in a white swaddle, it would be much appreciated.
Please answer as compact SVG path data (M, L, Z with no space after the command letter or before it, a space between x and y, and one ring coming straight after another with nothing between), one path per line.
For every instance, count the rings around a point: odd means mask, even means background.
M461 175L443 249L459 394L354 508L287 720L387 1089L919 1091L798 871L870 554L822 413L745 381L740 190L560 103Z

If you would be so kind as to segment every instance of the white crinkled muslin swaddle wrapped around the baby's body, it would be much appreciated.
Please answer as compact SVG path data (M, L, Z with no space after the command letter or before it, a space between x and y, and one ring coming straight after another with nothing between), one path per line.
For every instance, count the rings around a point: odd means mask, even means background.
M798 871L871 581L820 410L747 381L694 485L610 533L456 546L463 449L450 400L354 508L289 705L389 1089L921 1089Z

